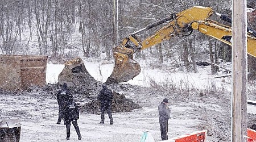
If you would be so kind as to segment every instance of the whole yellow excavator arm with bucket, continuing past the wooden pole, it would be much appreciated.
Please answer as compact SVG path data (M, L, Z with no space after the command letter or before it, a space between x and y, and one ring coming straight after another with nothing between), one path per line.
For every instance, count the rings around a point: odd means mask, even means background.
M135 52L152 47L161 43L163 40L171 39L171 37L188 36L193 30L214 37L223 43L232 45L232 27L220 24L209 17L213 14L220 16L220 19L231 23L226 15L214 12L210 7L194 6L191 9L181 11L177 14L171 14L167 18L152 23L141 30L135 31L129 37L123 39L122 43L113 48L114 69L110 77L106 80L106 84L126 82L133 79L141 72L138 62L133 60ZM156 31L153 35L141 40L136 35L139 32L150 30L160 24L166 23L165 26ZM247 53L256 57L256 31L247 28Z

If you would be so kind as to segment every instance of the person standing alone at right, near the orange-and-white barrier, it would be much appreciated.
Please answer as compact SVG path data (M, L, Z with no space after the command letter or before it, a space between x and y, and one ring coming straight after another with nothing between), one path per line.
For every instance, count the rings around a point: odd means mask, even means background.
M161 139L168 140L168 120L170 119L170 108L167 106L168 99L164 98L158 106Z

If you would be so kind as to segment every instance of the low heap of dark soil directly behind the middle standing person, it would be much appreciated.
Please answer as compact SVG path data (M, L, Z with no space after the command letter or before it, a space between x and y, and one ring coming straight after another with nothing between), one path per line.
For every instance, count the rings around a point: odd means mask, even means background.
M131 99L126 99L125 95L113 91L112 112L130 112L139 108L141 108L141 106L134 103ZM89 114L100 114L100 101L89 101L85 103L85 105L80 106L80 111Z

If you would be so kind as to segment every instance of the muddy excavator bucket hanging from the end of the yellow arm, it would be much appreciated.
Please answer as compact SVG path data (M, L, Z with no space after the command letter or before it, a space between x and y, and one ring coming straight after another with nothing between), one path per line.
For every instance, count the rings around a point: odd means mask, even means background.
M133 57L121 52L114 52L114 70L106 84L126 82L133 79L141 72L141 66Z

